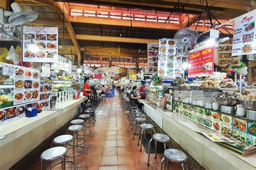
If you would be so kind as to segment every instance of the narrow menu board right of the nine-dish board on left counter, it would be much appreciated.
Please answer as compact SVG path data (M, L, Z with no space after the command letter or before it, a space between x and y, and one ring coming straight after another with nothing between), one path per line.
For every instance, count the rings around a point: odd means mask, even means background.
M49 108L49 97L52 94L52 79L40 80L40 92L39 92L39 105L42 106L43 110Z

